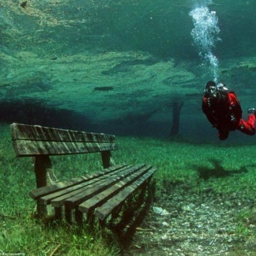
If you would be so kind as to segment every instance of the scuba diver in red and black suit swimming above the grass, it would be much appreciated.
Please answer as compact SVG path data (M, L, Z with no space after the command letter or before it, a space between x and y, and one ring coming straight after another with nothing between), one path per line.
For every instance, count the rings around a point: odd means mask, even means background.
M239 130L247 135L255 134L256 110L248 109L248 120L242 119L242 109L236 94L225 84L208 81L202 102L202 110L209 122L219 131L219 139L225 140L230 131Z

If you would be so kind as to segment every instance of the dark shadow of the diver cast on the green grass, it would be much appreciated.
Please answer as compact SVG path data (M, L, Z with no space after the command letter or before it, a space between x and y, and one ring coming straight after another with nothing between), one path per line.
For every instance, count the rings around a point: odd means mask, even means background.
M240 169L226 170L221 165L221 161L214 158L208 159L208 161L214 165L213 168L209 168L206 166L193 165L193 167L197 169L197 172L199 173L199 177L203 178L204 180L207 180L211 177L221 178L221 177L231 176L233 174L247 173L248 172L247 167L256 166L256 165L247 165L247 166L241 166Z

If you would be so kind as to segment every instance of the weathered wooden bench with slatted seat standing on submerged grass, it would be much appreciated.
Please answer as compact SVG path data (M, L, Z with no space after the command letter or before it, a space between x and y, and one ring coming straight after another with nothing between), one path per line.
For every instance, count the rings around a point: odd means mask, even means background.
M145 164L116 165L111 151L117 150L115 136L54 129L39 125L11 124L11 136L17 157L34 157L37 188L30 196L37 201L37 214L47 214L47 205L55 210L55 217L62 215L72 222L81 223L83 213L105 220L123 204L139 187L148 184L157 168ZM100 152L103 170L85 174L68 181L47 185L50 156Z

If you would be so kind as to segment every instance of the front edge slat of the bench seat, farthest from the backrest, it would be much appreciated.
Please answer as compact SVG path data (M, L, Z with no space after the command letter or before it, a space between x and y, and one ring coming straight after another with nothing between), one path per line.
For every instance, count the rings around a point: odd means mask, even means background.
M98 207L94 212L95 216L103 221L111 214L115 207L123 203L125 199L129 197L138 187L140 187L148 178L150 178L156 172L156 170L157 168L152 168L138 180L134 181L130 186L125 187L116 196L112 197L109 201Z

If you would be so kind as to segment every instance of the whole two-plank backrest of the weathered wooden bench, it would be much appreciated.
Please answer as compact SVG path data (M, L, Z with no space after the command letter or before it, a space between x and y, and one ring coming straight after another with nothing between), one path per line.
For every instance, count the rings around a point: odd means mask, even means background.
M56 156L117 150L114 135L55 129L39 125L11 124L17 157Z

